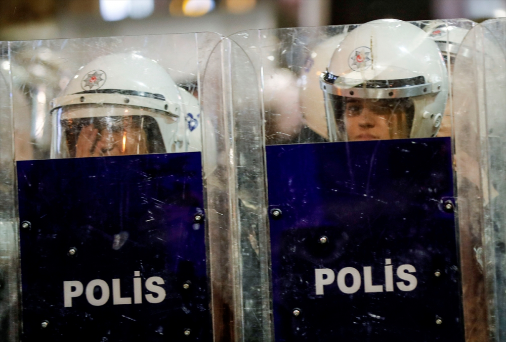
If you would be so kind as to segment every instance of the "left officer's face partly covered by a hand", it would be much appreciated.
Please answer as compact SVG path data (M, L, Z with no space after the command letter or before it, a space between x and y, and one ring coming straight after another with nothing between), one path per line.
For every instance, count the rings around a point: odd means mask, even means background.
M76 144L76 157L121 156L147 153L146 133L135 126L122 130L102 129L93 124L81 129Z

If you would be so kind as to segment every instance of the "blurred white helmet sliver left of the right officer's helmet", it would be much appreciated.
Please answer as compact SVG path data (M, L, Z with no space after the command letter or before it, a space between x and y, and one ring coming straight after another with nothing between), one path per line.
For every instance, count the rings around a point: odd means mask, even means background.
M321 98L320 76L326 71L335 48L346 34L337 34L316 45L308 54L300 77L300 103L306 125L328 139L325 102Z

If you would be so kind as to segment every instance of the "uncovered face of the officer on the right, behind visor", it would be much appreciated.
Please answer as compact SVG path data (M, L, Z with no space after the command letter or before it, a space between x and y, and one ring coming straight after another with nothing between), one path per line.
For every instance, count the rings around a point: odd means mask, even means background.
M347 98L346 132L349 141L402 139L409 133L399 101Z

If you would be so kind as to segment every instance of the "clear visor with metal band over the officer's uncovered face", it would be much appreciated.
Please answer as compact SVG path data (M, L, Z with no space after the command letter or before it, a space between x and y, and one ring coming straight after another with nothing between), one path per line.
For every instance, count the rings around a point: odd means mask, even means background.
M439 130L441 114L420 108L434 102L441 82L428 83L423 76L357 80L326 73L320 85L330 141L428 137Z

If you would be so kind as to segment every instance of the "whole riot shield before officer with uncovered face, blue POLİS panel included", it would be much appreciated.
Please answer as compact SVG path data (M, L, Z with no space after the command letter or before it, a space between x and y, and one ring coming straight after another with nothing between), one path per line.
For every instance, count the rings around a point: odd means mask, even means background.
M458 168L459 145L477 161L484 150L477 147L479 136L457 133L454 122L454 108L464 102L452 97L453 69L470 53L460 46L474 25L465 19L379 21L245 31L228 38L231 86L224 93L230 97L220 101L232 107L227 113L235 136L227 158L237 166L234 241L242 247L238 256L246 256L236 283L244 334L254 321L246 315L251 303L268 308L260 294L248 292L248 257L255 256L256 243L257 255L269 257L267 266L259 257L257 271L269 269L258 281L269 277L272 325L247 340L487 340L492 327L487 310L499 329L503 282L495 274L480 276L476 256L490 253L487 248L495 251L484 267L499 274L504 230L495 223L495 245L487 235L488 242L467 248L467 232L471 227L490 231L493 225L486 228L484 219L492 214L466 214L466 206L468 211L483 207L484 185L477 185L476 193L462 187L468 176ZM397 33L388 38L392 32ZM501 79L503 73L494 70ZM252 83L243 88L253 80L258 92ZM502 91L500 83L493 91ZM357 120L364 117L366 122ZM383 130L366 131L381 124ZM251 132L262 132L260 143ZM501 139L494 140L496 150L503 148ZM251 157L262 144L264 161ZM242 157L246 146L250 153ZM496 182L504 178L500 158L490 159ZM488 177L480 162L475 165ZM258 196L262 167L267 199ZM241 208L243 203L252 205ZM494 203L486 208L500 221L504 202ZM268 215L265 228L244 214L247 210ZM477 221L466 222L466 215ZM259 232L255 243L251 227ZM492 282L495 292L487 293L497 302L476 306L470 286L483 288L484 296Z

